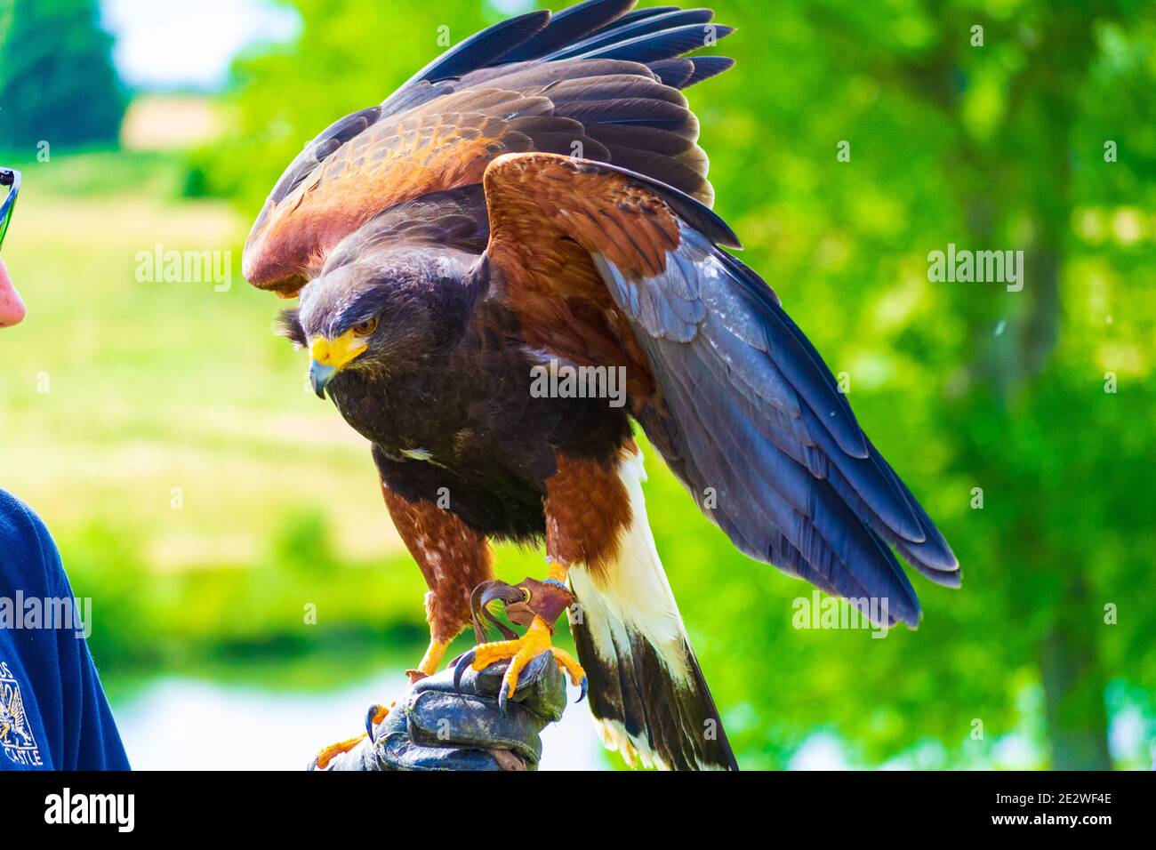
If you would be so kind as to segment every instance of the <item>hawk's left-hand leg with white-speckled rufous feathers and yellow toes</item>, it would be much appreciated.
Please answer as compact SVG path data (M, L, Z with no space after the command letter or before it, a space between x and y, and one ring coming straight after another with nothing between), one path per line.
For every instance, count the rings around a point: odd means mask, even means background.
M425 594L425 619L430 624L430 642L422 660L407 670L409 683L432 675L442 666L450 641L469 624L469 597L473 589L491 578L490 548L486 537L470 530L455 515L432 502L410 502L384 483L381 495L409 554L417 561L429 592ZM317 767L347 753L384 720L391 701L370 705L365 714L365 732L325 747L317 754Z

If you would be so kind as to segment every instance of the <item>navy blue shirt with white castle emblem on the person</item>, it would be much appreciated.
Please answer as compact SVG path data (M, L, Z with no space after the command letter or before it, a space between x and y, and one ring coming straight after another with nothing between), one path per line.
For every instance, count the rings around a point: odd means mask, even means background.
M127 770L49 530L0 490L0 769Z

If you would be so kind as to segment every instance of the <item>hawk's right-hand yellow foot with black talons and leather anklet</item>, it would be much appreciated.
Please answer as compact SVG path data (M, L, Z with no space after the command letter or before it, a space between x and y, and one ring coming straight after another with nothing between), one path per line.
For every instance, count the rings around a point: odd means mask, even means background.
M474 670L486 670L491 664L509 659L510 666L502 678L502 692L498 695L498 704L505 710L506 700L513 696L513 692L517 690L518 678L525 666L543 652L549 652L563 672L570 677L570 681L581 687L581 696L578 697L581 700L586 695L586 672L569 652L553 645L550 641L554 635L554 622L573 601L570 590L566 587L568 572L569 568L565 564L551 561L546 581L535 582L527 578L519 584L517 590L523 591L519 607L528 609L533 614L526 634L510 641L481 643L474 646L458 659L454 683L461 680L467 666Z

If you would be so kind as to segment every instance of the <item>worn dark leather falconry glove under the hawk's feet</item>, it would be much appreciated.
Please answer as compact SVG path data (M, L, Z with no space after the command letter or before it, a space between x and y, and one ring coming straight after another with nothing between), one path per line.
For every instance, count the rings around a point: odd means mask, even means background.
M518 689L498 708L507 663L466 670L461 692L453 665L409 686L377 727L328 770L536 770L539 733L562 718L566 686L554 656L543 652L523 670ZM316 760L309 766L317 769Z

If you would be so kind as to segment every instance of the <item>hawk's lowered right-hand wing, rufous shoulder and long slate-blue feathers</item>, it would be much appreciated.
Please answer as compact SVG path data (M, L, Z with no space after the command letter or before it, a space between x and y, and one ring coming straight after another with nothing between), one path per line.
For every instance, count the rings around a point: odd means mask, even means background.
M644 352L649 375L628 386L652 389L631 409L739 548L827 592L885 598L888 624L919 620L890 546L932 581L958 584L943 537L818 353L720 250L738 239L710 209L642 175L550 154L499 157L484 191L495 297L547 347L551 333L563 334L554 347L573 345L575 328L551 332L543 313L562 302L607 316L623 349Z

